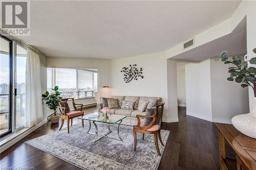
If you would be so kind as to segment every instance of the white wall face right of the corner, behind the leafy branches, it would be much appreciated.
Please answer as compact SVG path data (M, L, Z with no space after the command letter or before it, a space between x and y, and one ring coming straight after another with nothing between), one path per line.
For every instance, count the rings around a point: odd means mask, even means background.
M230 123L233 116L249 113L248 87L227 81L228 67L222 61L210 59L211 105L213 122Z

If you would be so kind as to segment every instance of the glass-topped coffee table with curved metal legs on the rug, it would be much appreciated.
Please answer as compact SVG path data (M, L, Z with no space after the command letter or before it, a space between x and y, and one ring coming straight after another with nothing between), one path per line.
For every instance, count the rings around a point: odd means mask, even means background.
M102 113L92 113L92 114L87 114L84 115L83 117L78 117L78 119L83 119L83 120L88 120L89 121L89 130L87 133L90 134L94 134L95 135L95 139L93 142L96 142L97 140L101 139L102 137L108 137L111 139L115 139L115 140L120 140L122 141L123 139L119 136L119 126L122 123L122 120L127 117L125 115L115 115L115 114L109 114L108 115L109 118L108 119L104 119L104 116L102 116ZM91 122L93 123L93 125L95 126L95 133L91 132ZM104 133L104 134L100 134L98 132L98 126L96 123L104 123L106 125L108 125L108 132ZM110 125L114 125L114 124L118 124L117 127L117 137L114 136L108 136L108 134L112 133L111 129L110 129ZM100 135L98 137L98 135Z

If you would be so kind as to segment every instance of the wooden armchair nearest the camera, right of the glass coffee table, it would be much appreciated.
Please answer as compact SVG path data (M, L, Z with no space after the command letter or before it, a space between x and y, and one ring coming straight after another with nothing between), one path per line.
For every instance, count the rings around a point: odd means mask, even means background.
M138 120L138 124L136 126L133 126L134 151L136 151L136 145L137 145L137 137L136 137L137 132L142 133L142 140L144 140L144 135L145 134L154 134L157 153L158 153L159 156L161 156L160 151L159 151L159 147L158 147L158 138L159 138L161 144L164 145L163 141L162 141L162 138L161 138L161 134L160 134L160 130L161 130L161 126L162 126L164 104L165 104L164 102L161 102L160 104L158 104L156 106L156 112L155 112L154 115L139 115L139 114L136 115L136 118ZM157 120L157 117L158 117L159 114L160 114L159 123L156 124L156 120ZM152 118L152 122L147 126L141 126L140 125L140 117Z

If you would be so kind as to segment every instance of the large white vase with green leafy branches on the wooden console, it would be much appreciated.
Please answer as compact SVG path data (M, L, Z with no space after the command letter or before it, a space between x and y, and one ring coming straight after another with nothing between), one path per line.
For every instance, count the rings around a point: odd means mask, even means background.
M256 54L256 48L253 49L253 52ZM215 61L218 60L219 58L215 59ZM233 64L232 67L228 67L228 72L230 73L230 77L227 78L228 81L241 83L243 88L251 87L254 91L252 112L234 116L231 122L243 134L256 138L256 68L253 66L248 67L247 61L242 61L241 57L232 57L232 60L229 60L227 51L221 53L221 61L224 64ZM251 58L249 62L250 64L256 64L256 57Z

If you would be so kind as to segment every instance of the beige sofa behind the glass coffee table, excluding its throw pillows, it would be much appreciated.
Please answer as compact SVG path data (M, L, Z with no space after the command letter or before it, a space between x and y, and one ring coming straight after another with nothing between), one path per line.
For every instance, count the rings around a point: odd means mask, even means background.
M111 109L110 114L119 114L119 115L127 115L131 117L136 117L137 114L145 115L144 112L140 112L138 109L139 101L150 101L150 100L156 100L157 103L160 103L162 101L161 98L158 97L144 97L144 96L119 96L119 95L113 95L110 96L110 98L118 99L119 108ZM122 107L122 101L135 101L134 104L134 110L127 110L127 109L121 109ZM97 108L99 111L102 109L102 104L97 104Z

